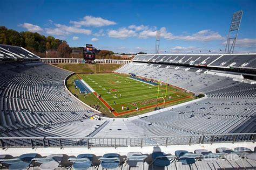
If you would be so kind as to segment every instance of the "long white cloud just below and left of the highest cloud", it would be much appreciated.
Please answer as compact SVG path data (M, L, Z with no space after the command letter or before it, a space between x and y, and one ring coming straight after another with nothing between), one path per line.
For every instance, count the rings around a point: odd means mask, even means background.
M46 33L48 34L53 34L53 35L68 35L70 33L80 33L80 34L86 34L90 35L92 33L91 30L86 30L86 29L79 29L75 26L66 26L66 25L61 25L61 24L54 24L56 28L54 29L49 29L46 28Z

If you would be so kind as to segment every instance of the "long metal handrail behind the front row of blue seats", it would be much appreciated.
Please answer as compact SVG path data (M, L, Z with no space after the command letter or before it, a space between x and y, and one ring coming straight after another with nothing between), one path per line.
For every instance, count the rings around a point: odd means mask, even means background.
M0 148L9 147L127 147L168 146L204 143L254 142L256 133L194 134L181 136L145 136L123 138L97 137L0 137Z

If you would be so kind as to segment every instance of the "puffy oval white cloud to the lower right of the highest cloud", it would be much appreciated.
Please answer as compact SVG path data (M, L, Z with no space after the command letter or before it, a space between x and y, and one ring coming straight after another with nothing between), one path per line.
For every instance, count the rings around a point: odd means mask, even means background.
M120 38L120 39L125 39L128 37L135 37L137 36L137 33L133 30L128 30L125 27L124 28L120 28L118 30L109 30L107 32L107 34L109 35L109 37L112 38Z

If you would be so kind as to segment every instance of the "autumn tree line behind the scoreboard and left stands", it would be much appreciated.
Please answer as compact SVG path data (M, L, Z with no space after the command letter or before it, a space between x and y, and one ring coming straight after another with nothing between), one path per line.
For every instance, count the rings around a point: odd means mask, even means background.
M45 37L37 32L18 32L5 26L0 26L0 44L20 46L42 58L83 58L83 47L69 47L65 40L52 36ZM80 53L71 54L72 49L78 49ZM95 52L96 59L123 59L109 50L95 49Z

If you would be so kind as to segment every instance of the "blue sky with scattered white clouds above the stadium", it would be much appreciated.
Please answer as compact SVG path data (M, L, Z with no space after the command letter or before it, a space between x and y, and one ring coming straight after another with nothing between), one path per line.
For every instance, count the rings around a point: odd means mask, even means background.
M244 11L235 52L256 52L256 1L13 1L0 2L0 25L39 32L72 47L114 52L219 53L233 13Z

